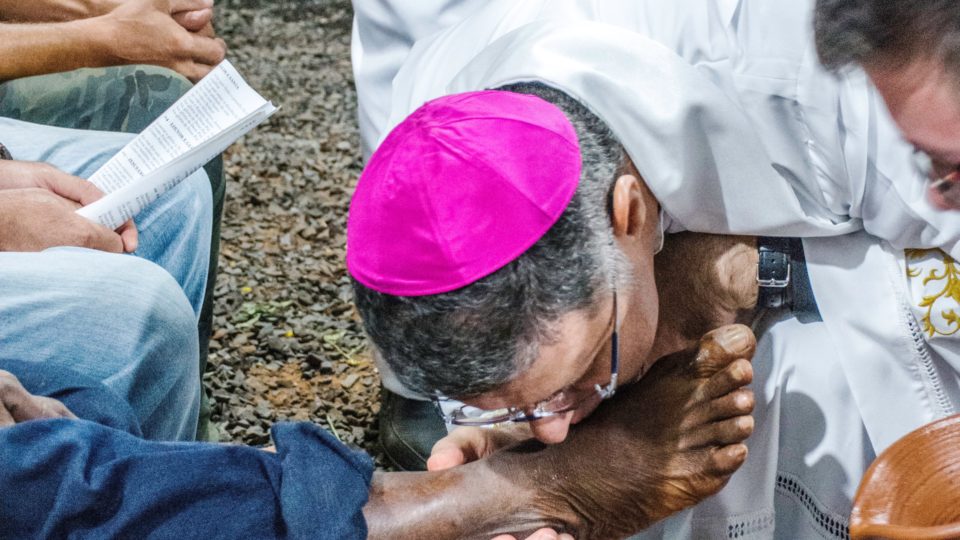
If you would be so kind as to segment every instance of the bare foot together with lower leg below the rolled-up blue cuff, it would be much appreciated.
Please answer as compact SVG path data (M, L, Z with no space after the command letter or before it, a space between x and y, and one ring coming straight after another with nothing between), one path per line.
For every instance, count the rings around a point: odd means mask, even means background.
M376 473L369 537L628 536L719 491L747 457L756 341L715 330L657 362L561 444L521 445L430 473Z

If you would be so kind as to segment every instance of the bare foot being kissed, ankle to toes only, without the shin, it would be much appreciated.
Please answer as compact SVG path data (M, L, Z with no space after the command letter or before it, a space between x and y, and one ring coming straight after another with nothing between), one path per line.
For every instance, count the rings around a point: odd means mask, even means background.
M566 516L576 538L610 539L718 492L747 457L755 347L747 327L732 325L699 352L657 362L566 442L534 455L546 473L536 506Z

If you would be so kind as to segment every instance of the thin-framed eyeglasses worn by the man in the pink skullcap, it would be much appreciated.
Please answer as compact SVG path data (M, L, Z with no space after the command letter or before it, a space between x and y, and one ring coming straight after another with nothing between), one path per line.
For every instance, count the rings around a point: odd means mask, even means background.
M549 418L558 414L572 411L584 401L599 397L605 400L617 391L617 372L620 370L620 339L617 330L620 328L620 312L617 309L617 292L613 292L613 332L610 334L610 382L606 386L599 384L586 392L574 388L564 388L549 398L529 407L504 407L502 409L485 410L464 405L450 413L440 407L442 397L434 397L437 410L448 424L458 426L489 426L505 422L532 422L541 418Z

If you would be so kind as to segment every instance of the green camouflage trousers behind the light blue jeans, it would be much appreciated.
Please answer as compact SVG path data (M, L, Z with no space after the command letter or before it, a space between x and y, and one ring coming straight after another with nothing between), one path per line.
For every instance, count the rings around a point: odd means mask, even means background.
M0 84L0 116L35 124L75 129L139 133L180 98L191 84L177 73L155 66L78 69ZM220 220L225 182L218 157L204 166L213 192L210 271L198 324L200 375L207 363L213 322L213 288L220 251ZM210 405L203 392L197 438L216 440Z

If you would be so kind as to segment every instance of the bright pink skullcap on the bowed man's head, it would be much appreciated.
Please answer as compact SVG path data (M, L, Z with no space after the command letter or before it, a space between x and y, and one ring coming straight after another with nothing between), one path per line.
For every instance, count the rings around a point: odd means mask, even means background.
M360 176L347 269L395 296L469 285L535 244L579 179L577 134L554 105L494 90L427 102Z

